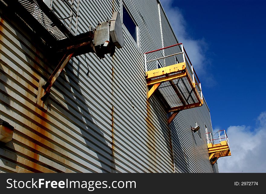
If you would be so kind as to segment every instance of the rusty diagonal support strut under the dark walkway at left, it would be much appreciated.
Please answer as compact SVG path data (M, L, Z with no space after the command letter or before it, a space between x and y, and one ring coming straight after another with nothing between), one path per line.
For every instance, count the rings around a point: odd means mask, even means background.
M42 86L42 88L44 89L44 94L41 97L42 101L46 100L46 98L50 95L51 87L53 86L54 82L59 77L59 75L62 73L63 69L65 68L66 64L69 62L69 60L71 59L73 54L74 54L74 52L72 51L72 52L67 52L63 56L63 58L61 59L61 61L57 65L57 67L55 68L55 70L52 73L52 75L50 75L50 78L48 79L46 84L44 84Z

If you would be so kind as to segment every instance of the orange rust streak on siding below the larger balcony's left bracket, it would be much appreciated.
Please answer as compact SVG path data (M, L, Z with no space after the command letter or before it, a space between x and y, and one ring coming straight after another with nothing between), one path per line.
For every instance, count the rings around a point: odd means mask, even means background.
M150 102L147 100L147 106L146 106L146 111L147 111L147 117L146 117L146 126L147 126L147 147L148 147L148 153L149 156L151 157L151 163L154 165L156 168L156 149L155 149L155 132L154 130L156 129L153 122L151 122L152 114L151 114L151 105ZM148 169L149 172L152 172L151 169Z

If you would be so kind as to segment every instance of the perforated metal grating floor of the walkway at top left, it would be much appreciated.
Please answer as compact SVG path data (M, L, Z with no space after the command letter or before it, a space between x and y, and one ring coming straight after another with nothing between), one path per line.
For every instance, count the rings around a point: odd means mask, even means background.
M66 36L58 29L58 27L49 19L49 17L47 17L47 15L38 7L38 5L36 5L33 0L18 1L56 40L62 40L66 38ZM69 30L68 27L66 28Z

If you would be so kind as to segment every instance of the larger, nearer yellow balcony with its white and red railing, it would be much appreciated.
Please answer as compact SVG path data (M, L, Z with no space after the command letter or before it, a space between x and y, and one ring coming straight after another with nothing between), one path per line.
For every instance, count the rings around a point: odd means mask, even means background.
M175 49L174 51L176 51L176 53L174 54L147 61L147 54L168 49L173 46L181 46L181 48L178 47ZM195 76L196 73L188 56L186 55L187 57L185 57L186 52L183 48L183 44L179 43L173 46L144 54L146 81L148 87L147 98L149 100L154 94L158 95L158 97L166 105L167 111L172 113L172 115L168 118L168 124L170 124L179 111L200 107L203 104L201 84L198 77ZM168 63L173 62L173 60L166 60L166 58L173 56L176 57L178 55L180 55L180 60L183 60L183 62L177 61L176 64L169 65ZM147 63L155 61L158 62L159 60L164 60L164 67L147 71Z

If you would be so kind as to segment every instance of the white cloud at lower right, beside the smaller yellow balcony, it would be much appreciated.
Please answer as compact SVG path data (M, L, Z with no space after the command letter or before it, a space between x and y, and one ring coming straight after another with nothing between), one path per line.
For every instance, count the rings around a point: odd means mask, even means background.
M266 112L257 118L257 127L230 126L227 131L231 156L219 158L219 172L266 172Z

